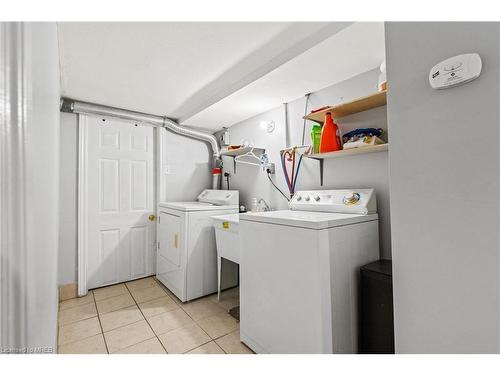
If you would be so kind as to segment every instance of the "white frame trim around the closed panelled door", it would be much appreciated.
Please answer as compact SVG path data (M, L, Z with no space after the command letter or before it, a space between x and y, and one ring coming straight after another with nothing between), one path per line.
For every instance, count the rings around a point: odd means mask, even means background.
M82 297L88 293L88 118L90 115L79 113L77 114L78 126L78 207L77 207L77 284L78 296ZM98 118L110 118L109 116L93 116ZM127 120L120 119L124 122ZM130 126L134 126L137 122L130 122ZM149 124L141 124L142 126L150 126ZM153 206L154 212L157 213L158 194L160 191L158 178L159 158L160 153L160 137L159 129L153 126ZM158 216L158 215L155 215ZM156 245L156 251L158 246ZM156 261L156 259L155 259Z

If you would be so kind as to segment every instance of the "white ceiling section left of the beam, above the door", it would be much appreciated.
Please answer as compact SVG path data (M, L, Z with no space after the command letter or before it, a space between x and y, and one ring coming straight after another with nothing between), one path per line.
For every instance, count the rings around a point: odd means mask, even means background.
M205 90L213 96L207 88L224 82L228 72L232 82L251 76L325 25L59 23L62 95L174 118L192 115L189 104L206 101L196 95Z

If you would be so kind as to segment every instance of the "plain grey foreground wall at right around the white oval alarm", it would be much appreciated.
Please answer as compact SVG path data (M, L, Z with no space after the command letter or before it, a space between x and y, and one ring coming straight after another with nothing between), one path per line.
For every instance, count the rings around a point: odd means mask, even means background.
M498 23L388 23L398 353L498 352ZM429 70L477 52L481 77L432 90Z

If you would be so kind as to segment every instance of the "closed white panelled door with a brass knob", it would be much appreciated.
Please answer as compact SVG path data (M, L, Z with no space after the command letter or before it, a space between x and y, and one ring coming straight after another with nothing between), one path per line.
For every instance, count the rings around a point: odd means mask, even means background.
M79 241L84 247L79 253L86 251L87 268L85 272L79 264L79 271L86 273L85 289L152 275L154 128L88 116L80 116L80 126L80 156L85 162L79 206L85 223L79 236L85 238Z

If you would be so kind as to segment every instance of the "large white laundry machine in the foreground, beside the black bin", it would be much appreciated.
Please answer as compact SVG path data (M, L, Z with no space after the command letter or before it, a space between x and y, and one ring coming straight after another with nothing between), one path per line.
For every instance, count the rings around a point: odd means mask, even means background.
M240 215L240 339L257 353L356 353L359 267L379 259L373 189L299 191Z

